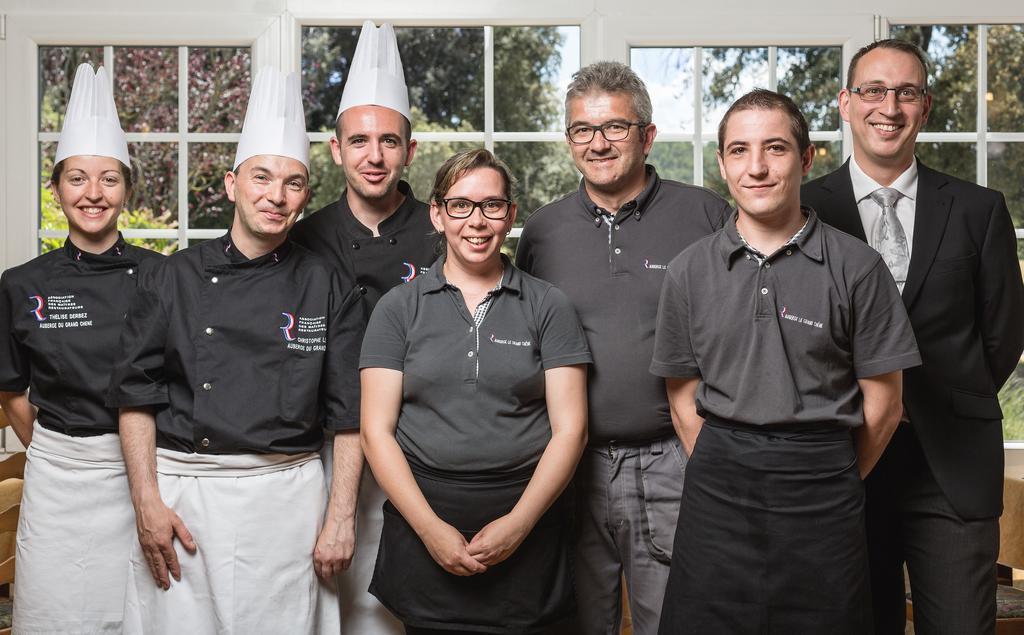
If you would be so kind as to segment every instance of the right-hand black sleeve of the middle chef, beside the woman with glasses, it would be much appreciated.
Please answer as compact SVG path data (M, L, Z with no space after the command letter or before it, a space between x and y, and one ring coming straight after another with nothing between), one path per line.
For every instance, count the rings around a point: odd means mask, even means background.
M369 311L366 296L355 285L343 284L337 271L331 274L331 322L321 386L325 427L350 430L359 427L359 346Z

